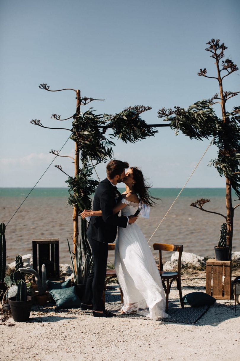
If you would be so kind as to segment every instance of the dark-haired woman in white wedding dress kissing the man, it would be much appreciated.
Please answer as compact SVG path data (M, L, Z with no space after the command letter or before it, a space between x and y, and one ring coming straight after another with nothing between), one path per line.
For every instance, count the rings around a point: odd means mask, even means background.
M113 209L121 210L122 216L134 214L142 204L153 206L141 170L130 167L123 178L126 191L122 200ZM101 216L101 211L84 210L81 217ZM127 228L118 227L115 246L115 262L119 286L123 292L121 313L136 312L151 319L168 317L162 279L149 245L136 222Z

